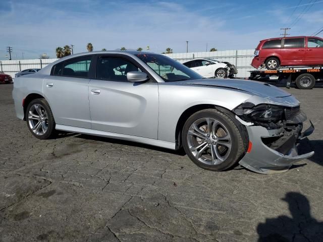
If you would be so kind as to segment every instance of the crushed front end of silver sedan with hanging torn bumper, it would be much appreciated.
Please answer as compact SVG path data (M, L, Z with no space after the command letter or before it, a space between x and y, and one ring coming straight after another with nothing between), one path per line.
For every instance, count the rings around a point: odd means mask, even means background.
M310 135L314 126L302 133L306 115L300 106L281 106L245 102L234 109L236 118L246 126L249 136L247 153L239 164L258 173L287 171L295 162L314 152L298 155L300 139Z

